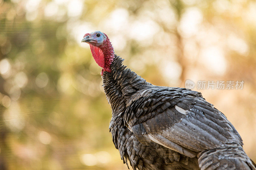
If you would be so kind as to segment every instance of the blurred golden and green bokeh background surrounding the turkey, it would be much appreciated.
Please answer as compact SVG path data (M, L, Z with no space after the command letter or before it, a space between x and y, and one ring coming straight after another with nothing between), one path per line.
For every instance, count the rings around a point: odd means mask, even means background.
M127 169L101 68L81 43L96 30L155 85L243 80L198 91L256 161L254 0L0 0L0 169Z

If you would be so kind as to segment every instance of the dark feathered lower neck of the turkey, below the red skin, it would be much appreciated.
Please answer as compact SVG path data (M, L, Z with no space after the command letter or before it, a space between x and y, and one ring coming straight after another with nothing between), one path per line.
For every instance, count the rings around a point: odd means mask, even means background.
M124 59L115 55L111 72L104 71L103 87L112 115L121 115L127 104L135 98L136 93L145 89L150 83L123 65Z

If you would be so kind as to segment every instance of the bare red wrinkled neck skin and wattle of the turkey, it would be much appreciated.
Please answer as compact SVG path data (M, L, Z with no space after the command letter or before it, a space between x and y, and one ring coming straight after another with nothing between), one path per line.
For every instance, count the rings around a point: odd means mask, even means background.
M115 52L111 42L108 39L108 36L99 47L90 44L90 48L94 60L100 67L102 67L101 75L103 75L104 71L111 72L110 65L112 64L113 59L115 58Z

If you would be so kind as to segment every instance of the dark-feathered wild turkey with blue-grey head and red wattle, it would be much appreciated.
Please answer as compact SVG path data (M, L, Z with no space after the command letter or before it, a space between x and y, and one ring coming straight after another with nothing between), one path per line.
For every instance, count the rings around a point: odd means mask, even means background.
M102 67L109 129L127 166L129 160L134 170L256 169L234 126L200 92L148 83L126 69L105 33L86 33L82 42Z

